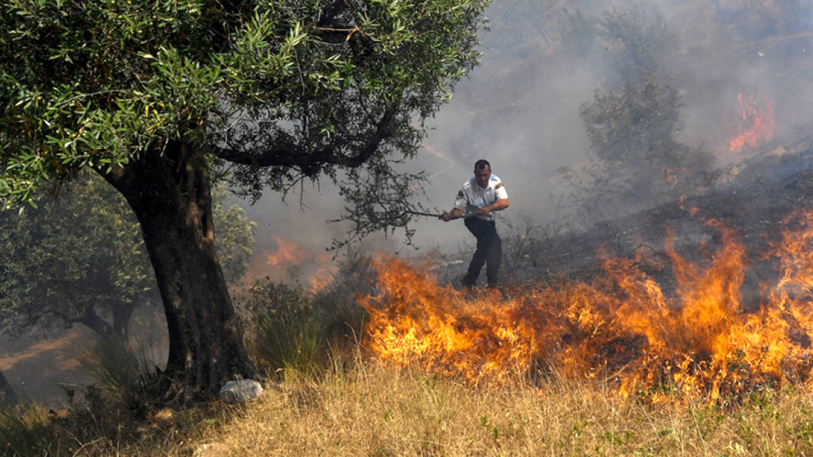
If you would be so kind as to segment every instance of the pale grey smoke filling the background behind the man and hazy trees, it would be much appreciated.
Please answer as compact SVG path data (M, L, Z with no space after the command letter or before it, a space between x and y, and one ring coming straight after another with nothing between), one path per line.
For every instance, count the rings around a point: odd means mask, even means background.
M652 59L683 102L675 141L710 153L718 167L755 154L753 148L732 154L727 146L741 94L770 102L775 111L776 133L759 150L806 138L813 117L813 7L804 0L498 0L486 11L490 31L481 34L480 67L430 120L424 150L406 165L431 177L424 207L449 209L476 159L488 159L511 198L504 220L562 224L572 216L558 204L568 192L558 170L590 157L579 107L594 89L617 89L620 67L628 64L619 60L627 55L621 41L597 35L598 22L614 11L643 11L653 39L663 40ZM259 223L255 255L271 255L275 237L323 252L346 236L348 227L326 222L342 207L325 183L306 185L285 203L266 195L246 207ZM424 252L454 253L473 244L459 221L424 218L415 228L415 246ZM354 249L412 252L399 236L371 237Z

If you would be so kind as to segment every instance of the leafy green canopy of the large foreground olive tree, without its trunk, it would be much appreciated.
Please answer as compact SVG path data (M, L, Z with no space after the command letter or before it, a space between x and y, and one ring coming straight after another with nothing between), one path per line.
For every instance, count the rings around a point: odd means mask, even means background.
M172 141L259 198L385 168L478 57L484 2L7 2L0 195ZM417 123L417 124L420 124ZM9 198L6 198L9 201Z

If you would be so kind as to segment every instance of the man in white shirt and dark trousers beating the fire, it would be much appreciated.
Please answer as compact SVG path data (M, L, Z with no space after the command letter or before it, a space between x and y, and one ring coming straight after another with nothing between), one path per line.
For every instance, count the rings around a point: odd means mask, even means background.
M454 200L454 208L441 215L441 219L446 222L466 216L466 228L477 238L477 249L468 265L466 276L463 276L464 286L474 287L485 264L489 287L497 287L497 276L502 263L502 239L494 224L494 211L507 207L508 192L502 181L491 174L491 164L488 161L478 160L474 164L474 176L463 183ZM467 210L471 214L467 214Z

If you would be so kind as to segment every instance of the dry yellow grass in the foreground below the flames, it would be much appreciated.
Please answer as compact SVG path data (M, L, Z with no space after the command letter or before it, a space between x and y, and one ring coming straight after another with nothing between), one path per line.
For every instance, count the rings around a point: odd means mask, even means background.
M495 390L376 361L341 364L318 379L288 376L245 405L117 426L89 411L53 418L49 448L21 455L813 455L806 389L727 409L647 406L583 382ZM95 432L78 431L87 421Z

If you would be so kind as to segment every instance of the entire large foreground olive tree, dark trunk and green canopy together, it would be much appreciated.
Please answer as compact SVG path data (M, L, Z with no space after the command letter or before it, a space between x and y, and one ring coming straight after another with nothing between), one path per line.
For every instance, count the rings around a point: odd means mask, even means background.
M0 198L79 169L124 195L167 316L155 391L211 398L255 372L215 252L213 172L253 198L322 176L366 197L362 233L405 226L421 174L396 167L476 65L487 3L2 2Z

